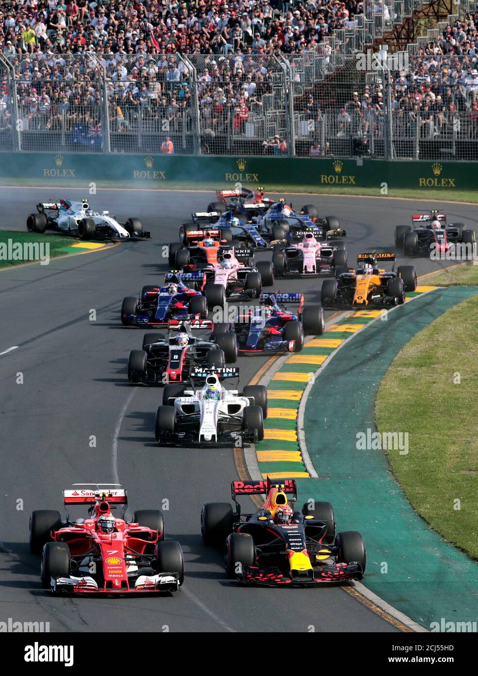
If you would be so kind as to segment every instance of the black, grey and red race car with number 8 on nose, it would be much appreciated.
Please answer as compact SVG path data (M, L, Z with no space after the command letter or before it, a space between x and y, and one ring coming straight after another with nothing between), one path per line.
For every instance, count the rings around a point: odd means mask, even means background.
M176 335L145 333L142 349L133 349L128 360L130 383L148 385L188 380L196 366L224 366L234 364L238 345L234 333L214 333L211 338L196 338L188 322L169 325Z

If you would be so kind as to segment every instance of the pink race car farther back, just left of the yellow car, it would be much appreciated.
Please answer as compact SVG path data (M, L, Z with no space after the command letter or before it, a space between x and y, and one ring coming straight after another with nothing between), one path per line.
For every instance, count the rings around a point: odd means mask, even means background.
M272 256L274 274L284 276L313 276L335 274L347 264L345 248L317 241L313 232L306 232L302 241L275 244Z

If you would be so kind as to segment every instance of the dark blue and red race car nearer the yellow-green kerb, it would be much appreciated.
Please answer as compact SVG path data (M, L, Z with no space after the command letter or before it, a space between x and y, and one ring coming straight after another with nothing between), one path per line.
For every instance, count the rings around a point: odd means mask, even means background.
M298 304L296 314L289 312L285 304ZM303 293L262 293L254 310L247 309L229 324L214 324L214 331L231 329L236 333L240 353L300 352L304 335L323 333L323 310L304 308Z

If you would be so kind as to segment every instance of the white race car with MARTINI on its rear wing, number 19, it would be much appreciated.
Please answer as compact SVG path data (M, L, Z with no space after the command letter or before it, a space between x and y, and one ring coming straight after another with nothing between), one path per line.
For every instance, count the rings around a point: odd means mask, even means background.
M247 385L240 393L225 389L220 379L239 378L238 368L198 367L191 385L165 385L163 406L156 412L155 439L161 445L223 446L255 443L264 438L267 391ZM197 381L203 386L194 389Z

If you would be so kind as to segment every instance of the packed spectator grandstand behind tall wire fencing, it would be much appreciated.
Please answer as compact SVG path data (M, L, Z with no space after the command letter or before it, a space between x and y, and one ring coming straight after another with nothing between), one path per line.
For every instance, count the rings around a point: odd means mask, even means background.
M476 2L404 43L437 2L1 3L0 149L477 160Z

